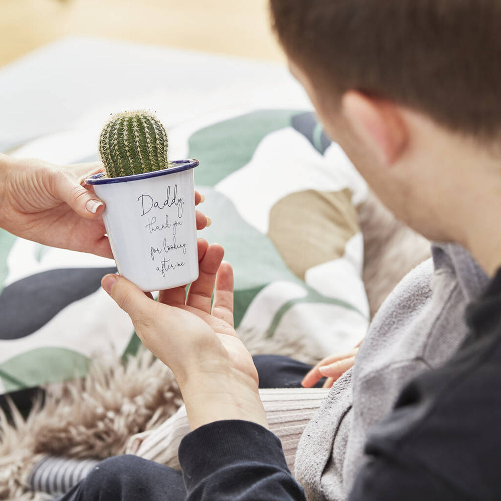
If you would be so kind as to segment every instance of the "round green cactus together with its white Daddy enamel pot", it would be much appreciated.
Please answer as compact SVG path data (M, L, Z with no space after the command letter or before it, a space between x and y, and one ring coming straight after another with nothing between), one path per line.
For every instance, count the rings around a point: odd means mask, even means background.
M105 202L103 219L118 272L145 292L198 278L193 168L168 161L167 134L151 114L114 115L99 151L106 174L86 179Z

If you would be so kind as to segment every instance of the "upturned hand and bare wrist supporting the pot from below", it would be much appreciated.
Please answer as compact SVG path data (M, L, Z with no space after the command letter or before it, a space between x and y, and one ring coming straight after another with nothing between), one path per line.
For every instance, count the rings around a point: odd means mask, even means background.
M221 245L198 240L199 276L187 296L178 287L156 302L123 277L102 282L143 344L172 369L192 430L226 419L267 426L256 367L233 327L233 272L223 254Z

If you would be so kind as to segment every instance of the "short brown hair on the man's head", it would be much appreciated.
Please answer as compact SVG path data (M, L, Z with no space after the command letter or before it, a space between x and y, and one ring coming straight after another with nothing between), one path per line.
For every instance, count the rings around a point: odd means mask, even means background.
M501 0L271 0L293 61L484 138L501 129Z

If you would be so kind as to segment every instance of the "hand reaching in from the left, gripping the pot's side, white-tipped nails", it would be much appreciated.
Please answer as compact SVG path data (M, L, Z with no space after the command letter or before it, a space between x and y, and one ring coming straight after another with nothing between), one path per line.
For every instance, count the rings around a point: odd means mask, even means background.
M104 203L86 177L104 172L101 162L54 165L0 154L0 227L21 238L112 258L102 214ZM195 204L203 201L195 193ZM196 211L196 227L210 224Z

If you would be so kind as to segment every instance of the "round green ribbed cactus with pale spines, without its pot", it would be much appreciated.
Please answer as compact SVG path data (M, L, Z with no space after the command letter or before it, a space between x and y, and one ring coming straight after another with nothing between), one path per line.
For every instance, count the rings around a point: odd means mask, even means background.
M167 146L163 125L144 111L113 115L99 138L99 153L108 177L168 168Z

